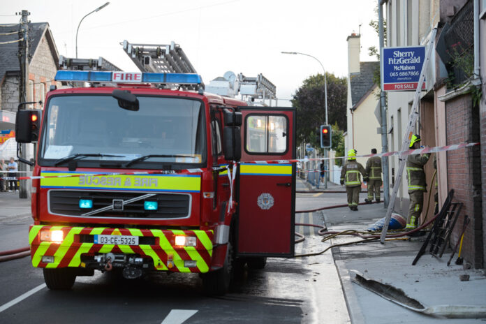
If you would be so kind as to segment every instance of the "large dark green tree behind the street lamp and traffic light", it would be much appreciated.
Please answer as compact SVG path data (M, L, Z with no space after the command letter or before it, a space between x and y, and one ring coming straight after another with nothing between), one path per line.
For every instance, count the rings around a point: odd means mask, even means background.
M327 121L337 124L339 129L346 131L346 99L347 81L332 73L327 76ZM316 130L325 124L325 91L324 75L311 75L302 82L293 96L292 105L297 108L297 139L299 142L311 143L319 147ZM332 135L332 149L338 145Z

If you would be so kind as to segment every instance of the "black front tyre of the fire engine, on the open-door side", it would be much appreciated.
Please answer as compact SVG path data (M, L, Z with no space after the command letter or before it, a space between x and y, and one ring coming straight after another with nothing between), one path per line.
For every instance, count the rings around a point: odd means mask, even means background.
M224 295L230 288L231 276L233 275L233 248L228 243L226 260L221 269L202 274L202 287L207 295Z

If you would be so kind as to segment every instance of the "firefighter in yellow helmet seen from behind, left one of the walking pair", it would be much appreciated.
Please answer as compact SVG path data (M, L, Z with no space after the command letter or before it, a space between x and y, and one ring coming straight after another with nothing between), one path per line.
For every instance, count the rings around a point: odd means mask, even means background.
M368 181L366 170L363 166L356 162L356 150L350 149L348 151L348 162L341 169L341 186L346 185L346 193L348 194L349 209L358 210L358 202L360 200L361 191L361 175L364 181Z

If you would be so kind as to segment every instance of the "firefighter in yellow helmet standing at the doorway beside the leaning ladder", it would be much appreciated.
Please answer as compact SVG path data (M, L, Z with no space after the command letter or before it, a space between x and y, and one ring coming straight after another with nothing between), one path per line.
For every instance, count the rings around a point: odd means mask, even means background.
M410 141L410 149L420 148L420 135L413 135ZM408 208L408 221L406 230L417 228L418 219L424 207L424 193L427 191L425 183L424 165L429 161L430 154L426 153L409 155L406 159L406 177L408 179L408 196L410 207Z

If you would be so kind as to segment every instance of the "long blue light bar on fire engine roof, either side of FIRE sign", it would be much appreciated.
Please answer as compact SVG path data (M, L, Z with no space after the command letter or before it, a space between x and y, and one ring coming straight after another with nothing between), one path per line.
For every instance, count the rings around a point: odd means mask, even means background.
M131 74L129 72L117 72L120 75ZM117 82L113 81L113 72L107 71L57 71L54 78L56 81L74 81L74 82ZM142 80L130 78L121 78L121 80L130 80L130 83L168 83L168 84L201 84L202 78L195 73L142 73ZM132 81L133 80L133 81Z

